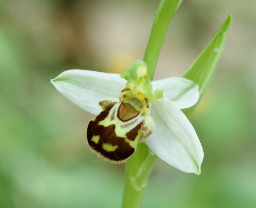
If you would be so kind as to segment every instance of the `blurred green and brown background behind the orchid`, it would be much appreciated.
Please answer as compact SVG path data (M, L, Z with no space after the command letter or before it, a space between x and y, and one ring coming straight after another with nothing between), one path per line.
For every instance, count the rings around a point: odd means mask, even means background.
M143 59L159 1L1 1L1 207L120 207L124 164L85 145L93 117L50 79ZM190 117L202 174L157 161L143 207L255 207L256 1L184 1L155 79L181 76L228 14L216 74Z

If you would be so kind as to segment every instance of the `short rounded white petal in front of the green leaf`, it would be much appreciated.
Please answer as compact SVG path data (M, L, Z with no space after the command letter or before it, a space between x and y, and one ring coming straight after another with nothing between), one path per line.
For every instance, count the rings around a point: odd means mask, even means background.
M179 108L189 108L199 99L199 88L195 82L182 77L169 77L152 82L156 88L164 91L164 97Z

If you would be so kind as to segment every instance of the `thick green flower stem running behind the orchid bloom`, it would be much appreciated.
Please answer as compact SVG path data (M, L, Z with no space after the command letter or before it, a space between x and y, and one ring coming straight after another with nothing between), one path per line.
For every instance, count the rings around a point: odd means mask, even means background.
M171 19L182 0L161 0L145 51L144 61L153 80L156 63ZM145 143L137 146L136 152L125 165L125 185L122 207L141 207L144 190L158 157Z

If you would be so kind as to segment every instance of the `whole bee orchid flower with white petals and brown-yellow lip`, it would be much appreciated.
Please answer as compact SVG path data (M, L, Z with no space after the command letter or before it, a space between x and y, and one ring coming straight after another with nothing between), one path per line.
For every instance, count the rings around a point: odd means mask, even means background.
M112 122L111 124L116 126L114 131L116 136L125 139L124 142L129 143L134 151L138 142L145 142L152 150L152 154L155 153L173 167L184 172L193 172L198 175L201 173L203 149L193 126L180 110L197 103L199 90L195 82L181 77L169 77L151 82L148 66L141 60L135 61L121 76L119 74L71 69L62 72L51 82L62 95L74 104L85 111L98 115L92 119L92 123L90 122L88 131L95 128L95 125L107 128L110 126L109 122ZM126 92L128 94L125 94ZM110 111L110 105L112 111ZM123 114L118 114L121 108L124 111L123 117ZM100 112L105 111L108 111L108 120L105 119L106 116L101 121L97 120L102 115ZM134 119L134 121L130 119ZM128 130L118 129L118 125L123 125L124 122L129 121L129 125L134 129L139 120L141 122L144 120L144 123L143 125L140 123L142 127L137 131L134 142L132 142L129 138L125 138L127 135L125 133ZM100 137L102 135L91 135L93 141L91 143L98 144ZM107 156L97 151L94 152L100 157L110 159L119 149L117 143L115 144L102 143L105 145L103 149ZM93 145L90 146L91 149L94 149ZM130 156L128 155L121 162L126 161Z

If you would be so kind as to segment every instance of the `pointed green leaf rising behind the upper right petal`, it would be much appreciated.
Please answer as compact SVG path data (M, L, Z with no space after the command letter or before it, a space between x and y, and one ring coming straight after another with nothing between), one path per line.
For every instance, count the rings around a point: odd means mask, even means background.
M209 86L212 76L220 60L221 53L224 48L224 44L228 37L228 31L232 22L232 15L228 15L228 18L220 26L220 29L215 33L211 41L204 48L203 52L196 58L194 63L188 68L184 78L190 79L199 85L199 103L203 97L207 87ZM196 105L197 105L196 104ZM183 112L186 116L192 114L196 105L184 109Z

